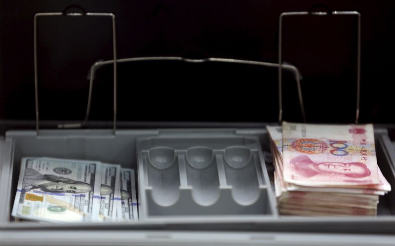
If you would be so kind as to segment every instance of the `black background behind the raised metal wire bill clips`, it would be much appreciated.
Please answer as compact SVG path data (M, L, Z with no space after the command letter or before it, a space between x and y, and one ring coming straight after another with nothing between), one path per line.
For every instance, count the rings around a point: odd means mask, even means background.
M0 0L0 119L34 119L33 16L77 4L117 16L118 58L225 57L277 62L278 16L315 4L361 13L360 122L393 122L394 1ZM82 120L90 65L112 59L110 19L38 21L40 119ZM283 60L303 75L308 122L351 123L356 108L356 17L286 17ZM98 71L92 120L112 119L112 67ZM284 72L284 120L301 121ZM234 64L118 66L118 120L276 122L277 70Z

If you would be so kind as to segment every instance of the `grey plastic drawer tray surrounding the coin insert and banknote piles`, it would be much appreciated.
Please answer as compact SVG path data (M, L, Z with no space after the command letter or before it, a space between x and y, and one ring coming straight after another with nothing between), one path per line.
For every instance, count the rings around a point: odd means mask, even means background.
M263 129L178 129L178 130L117 130L113 135L109 130L43 130L37 136L35 131L9 131L3 144L3 164L1 176L1 209L6 211L2 216L2 227L10 228L70 228L78 227L84 230L90 229L165 229L204 230L216 228L219 230L264 230L283 232L337 232L337 233L393 233L392 216L395 209L394 191L389 192L380 199L378 216L356 217L292 217L292 216L267 216L267 215L243 215L228 214L221 216L207 215L179 215L160 216L132 223L114 224L43 224L37 222L12 222L10 219L10 207L15 196L15 187L19 175L20 160L24 156L50 156L70 159L95 159L104 162L118 162L123 167L136 168L136 139L148 136L182 137L207 139L227 139L232 143L233 139L245 139L256 137L262 143L262 153L268 156L269 138ZM375 130L377 160L380 169L391 185L395 182L394 172L394 149L385 129ZM254 138L253 138L254 139ZM267 158L269 170L270 159ZM270 171L269 171L270 172ZM12 174L12 175L10 175ZM270 194L273 196L273 194ZM188 210L186 208L186 210ZM276 214L276 212L275 212Z

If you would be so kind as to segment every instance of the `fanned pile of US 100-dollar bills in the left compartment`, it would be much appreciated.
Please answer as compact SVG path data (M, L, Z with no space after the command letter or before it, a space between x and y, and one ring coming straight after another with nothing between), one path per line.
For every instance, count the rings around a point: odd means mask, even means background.
M134 170L95 161L22 158L12 216L49 222L137 220Z

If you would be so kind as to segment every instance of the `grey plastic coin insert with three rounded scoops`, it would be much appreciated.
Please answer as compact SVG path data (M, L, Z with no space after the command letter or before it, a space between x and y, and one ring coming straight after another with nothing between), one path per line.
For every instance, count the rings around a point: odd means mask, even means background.
M258 137L164 134L138 139L137 156L142 219L277 214Z

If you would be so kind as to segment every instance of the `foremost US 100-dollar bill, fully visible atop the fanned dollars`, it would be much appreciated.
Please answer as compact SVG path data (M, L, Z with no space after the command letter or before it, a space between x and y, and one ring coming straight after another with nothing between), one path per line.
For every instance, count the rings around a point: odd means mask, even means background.
M101 163L22 158L12 216L53 222L98 219Z

